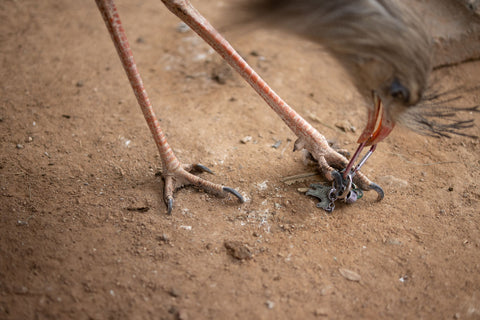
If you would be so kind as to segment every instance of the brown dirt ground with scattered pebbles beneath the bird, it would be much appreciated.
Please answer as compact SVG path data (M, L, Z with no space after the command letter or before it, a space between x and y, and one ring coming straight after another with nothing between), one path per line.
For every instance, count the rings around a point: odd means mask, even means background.
M195 3L224 21L225 2ZM282 181L314 168L239 76L160 1L119 10L177 156L248 201L185 188L166 215L156 147L95 3L1 1L1 319L480 319L477 138L396 128L363 169L385 199L327 214L298 191L315 179ZM355 149L366 109L318 45L225 31ZM478 61L432 75L438 91L479 83ZM479 90L461 96L451 104L480 104ZM480 135L479 114L458 119Z

